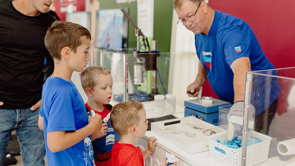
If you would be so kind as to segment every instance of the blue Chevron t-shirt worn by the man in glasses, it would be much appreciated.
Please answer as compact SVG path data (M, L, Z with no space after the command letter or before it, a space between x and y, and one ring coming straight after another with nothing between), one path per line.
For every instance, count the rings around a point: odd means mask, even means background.
M195 35L195 46L198 58L206 68L207 79L220 100L231 103L234 101L234 74L230 65L236 59L250 58L251 71L275 68L262 52L259 42L248 23L217 10L215 10L209 34L200 33ZM280 93L278 83L272 84L278 92L273 92L275 94L271 95L270 104L278 98ZM260 89L264 89L264 87ZM257 94L253 93L252 95ZM259 105L263 98L260 93L260 97L256 98L255 102L252 103L256 109L256 115L269 106Z

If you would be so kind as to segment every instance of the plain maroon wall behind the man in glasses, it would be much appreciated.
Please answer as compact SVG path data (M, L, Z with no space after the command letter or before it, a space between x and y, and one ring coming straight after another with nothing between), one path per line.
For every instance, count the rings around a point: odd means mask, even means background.
M275 68L295 67L294 0L209 0L209 5L245 20ZM202 95L217 97L208 81Z

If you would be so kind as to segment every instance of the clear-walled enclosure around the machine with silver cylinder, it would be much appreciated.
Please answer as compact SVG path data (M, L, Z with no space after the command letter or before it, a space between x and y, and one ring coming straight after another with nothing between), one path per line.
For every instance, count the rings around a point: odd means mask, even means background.
M171 53L136 53L135 48L95 50L92 65L113 76L113 100L150 101L167 93ZM148 60L150 57L152 59Z

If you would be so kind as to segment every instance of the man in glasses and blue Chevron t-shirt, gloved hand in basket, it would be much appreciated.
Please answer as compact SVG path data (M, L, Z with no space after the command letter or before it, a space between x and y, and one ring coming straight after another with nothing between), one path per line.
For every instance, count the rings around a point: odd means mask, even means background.
M230 108L227 132L228 140L231 140L235 132L242 134L246 72L275 67L262 52L254 32L244 20L213 10L203 0L175 0L174 8L178 23L195 33L195 47L200 59L195 82L187 87L188 95L197 96L208 79L219 99L234 103ZM269 126L277 107L280 87L277 80L253 81L261 86L251 94L249 119L253 121L255 116L255 130L262 132L263 112L266 109L270 111L267 114ZM266 90L270 88L271 92ZM266 98L269 100L267 104ZM265 134L267 132L268 128Z

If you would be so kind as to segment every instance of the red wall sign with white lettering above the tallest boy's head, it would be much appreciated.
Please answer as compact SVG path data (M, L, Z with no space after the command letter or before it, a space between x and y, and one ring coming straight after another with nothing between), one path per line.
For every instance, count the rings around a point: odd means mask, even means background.
M56 0L54 4L60 20L65 20L66 13L85 11L85 0Z

